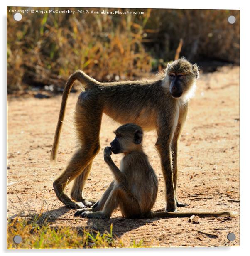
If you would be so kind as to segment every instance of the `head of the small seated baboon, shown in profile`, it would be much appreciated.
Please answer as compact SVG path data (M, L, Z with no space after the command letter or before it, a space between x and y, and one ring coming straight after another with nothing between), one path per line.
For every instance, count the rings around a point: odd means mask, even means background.
M142 128L132 123L115 130L115 139L110 143L114 154L129 153L141 147Z

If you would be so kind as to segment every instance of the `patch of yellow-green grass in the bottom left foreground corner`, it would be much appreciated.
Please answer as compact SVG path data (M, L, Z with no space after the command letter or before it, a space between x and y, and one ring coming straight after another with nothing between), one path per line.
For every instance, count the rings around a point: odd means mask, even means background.
M124 246L122 240L113 235L113 224L110 231L100 233L92 229L69 226L52 226L44 219L43 214L30 217L14 217L7 221L7 249L65 249L65 248L110 248L142 247L143 241L132 241ZM20 244L15 244L13 237L22 237Z

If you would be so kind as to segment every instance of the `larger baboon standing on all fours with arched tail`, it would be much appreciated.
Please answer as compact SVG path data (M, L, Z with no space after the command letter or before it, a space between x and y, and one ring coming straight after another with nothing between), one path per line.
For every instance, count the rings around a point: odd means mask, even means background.
M176 195L177 145L198 77L197 65L184 58L168 64L164 74L153 80L100 83L83 71L72 74L62 96L51 162L56 160L66 102L75 80L80 81L85 89L78 97L75 111L77 138L81 146L53 183L59 200L72 208L91 205L83 199L82 190L92 161L100 150L100 124L105 113L121 124L135 123L145 130L157 131L155 146L165 180L166 211L174 212L176 207L186 206ZM71 198L75 202L64 194L64 188L74 179Z

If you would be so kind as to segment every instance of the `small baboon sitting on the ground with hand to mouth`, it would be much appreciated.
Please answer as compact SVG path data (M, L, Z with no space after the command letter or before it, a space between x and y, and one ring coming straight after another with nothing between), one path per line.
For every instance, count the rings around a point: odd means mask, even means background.
M115 139L111 147L104 149L104 160L114 176L113 182L105 191L100 201L92 209L79 209L75 216L88 218L110 218L119 206L123 217L189 217L198 216L233 216L234 212L152 212L158 190L157 176L150 165L147 155L142 150L142 128L132 123L115 130ZM120 169L111 159L114 154L123 153Z

